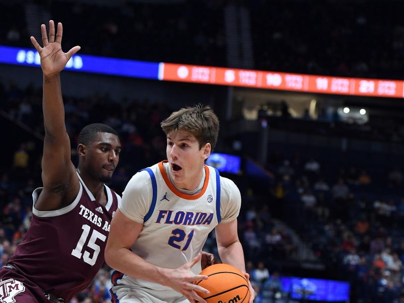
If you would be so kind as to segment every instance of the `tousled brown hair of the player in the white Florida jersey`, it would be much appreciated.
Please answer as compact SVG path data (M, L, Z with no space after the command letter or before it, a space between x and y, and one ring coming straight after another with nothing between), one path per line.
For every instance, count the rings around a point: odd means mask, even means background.
M210 106L195 105L173 112L161 123L161 128L168 135L172 131L186 130L192 133L202 148L206 143L215 147L219 134L219 119Z

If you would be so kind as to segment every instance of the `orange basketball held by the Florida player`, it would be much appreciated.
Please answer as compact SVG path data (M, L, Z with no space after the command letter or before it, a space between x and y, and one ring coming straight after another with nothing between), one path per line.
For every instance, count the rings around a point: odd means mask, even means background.
M211 293L197 291L208 303L248 303L249 290L245 276L234 266L228 264L214 264L200 275L206 275L207 280L195 281L196 285L208 289Z

